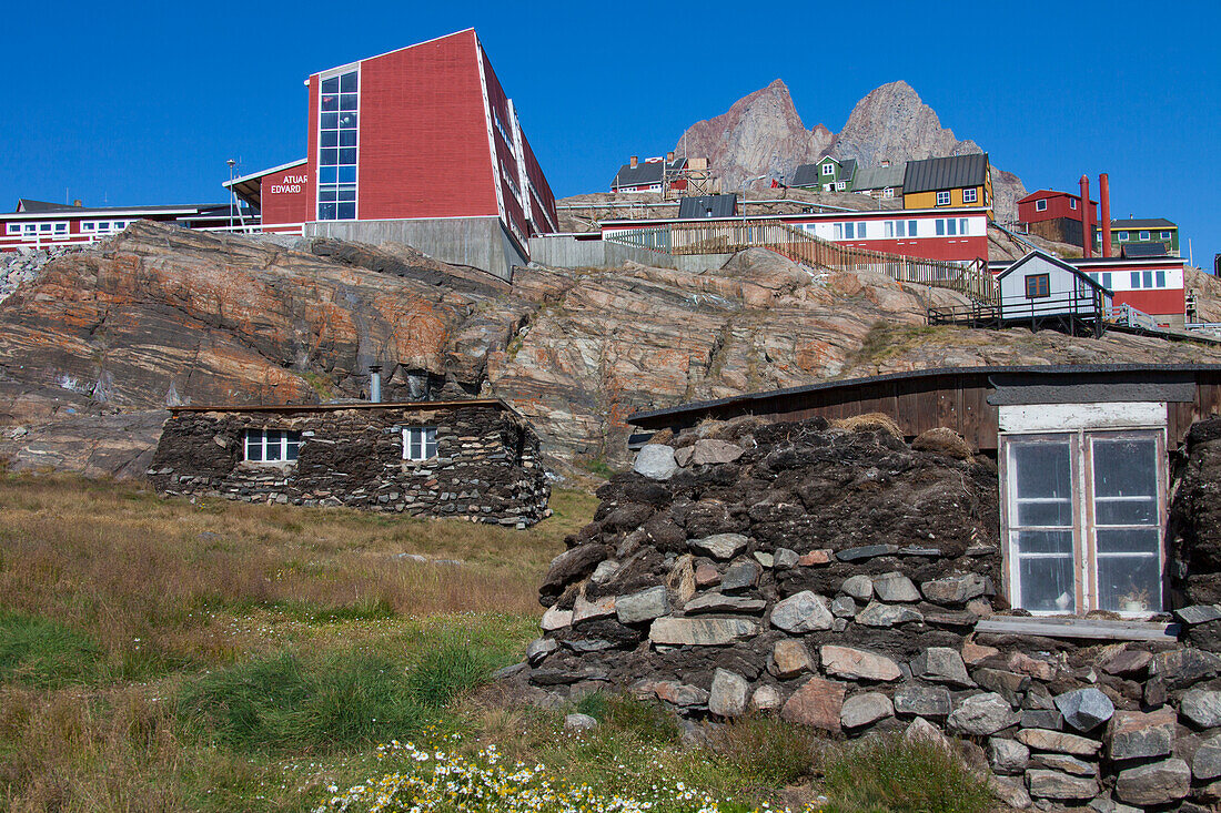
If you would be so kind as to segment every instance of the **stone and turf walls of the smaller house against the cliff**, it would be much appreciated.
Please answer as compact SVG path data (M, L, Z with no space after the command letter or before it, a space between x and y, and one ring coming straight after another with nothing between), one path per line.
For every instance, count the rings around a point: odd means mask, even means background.
M437 428L437 457L403 459L402 430ZM247 428L304 435L295 463L247 463ZM496 405L176 410L148 476L167 494L347 505L525 527L547 511L538 438Z

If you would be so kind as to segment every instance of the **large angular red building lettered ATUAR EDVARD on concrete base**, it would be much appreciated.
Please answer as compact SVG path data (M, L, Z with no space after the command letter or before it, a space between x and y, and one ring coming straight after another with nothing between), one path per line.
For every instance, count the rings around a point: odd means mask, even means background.
M556 199L475 31L313 74L304 161L238 178L266 231L400 240L508 277Z

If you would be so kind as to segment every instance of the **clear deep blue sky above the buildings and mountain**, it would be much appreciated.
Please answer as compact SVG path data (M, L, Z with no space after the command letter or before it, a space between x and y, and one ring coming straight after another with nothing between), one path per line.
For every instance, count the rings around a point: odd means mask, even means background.
M779 77L807 127L906 79L1027 188L1221 251L1221 4L9 4L0 208L223 199L305 150L310 73L474 26L557 195L601 190ZM823 32L830 32L825 35Z

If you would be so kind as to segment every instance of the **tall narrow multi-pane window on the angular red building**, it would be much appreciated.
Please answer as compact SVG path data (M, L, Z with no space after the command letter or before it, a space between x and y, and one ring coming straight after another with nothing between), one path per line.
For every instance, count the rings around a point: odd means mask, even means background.
M321 81L317 121L317 219L357 219L360 72Z

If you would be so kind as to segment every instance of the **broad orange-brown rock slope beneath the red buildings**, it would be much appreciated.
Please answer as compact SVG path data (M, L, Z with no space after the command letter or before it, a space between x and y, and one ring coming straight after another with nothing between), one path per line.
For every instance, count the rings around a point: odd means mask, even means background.
M359 398L375 361L388 400L503 398L552 465L623 463L639 409L830 376L1221 361L1221 350L1154 338L929 328L927 304L952 294L762 249L703 273L525 269L510 288L403 247L299 248L139 223L50 262L0 303L0 454L131 463L132 438L154 419L125 433L116 413ZM99 415L110 424L78 427Z

